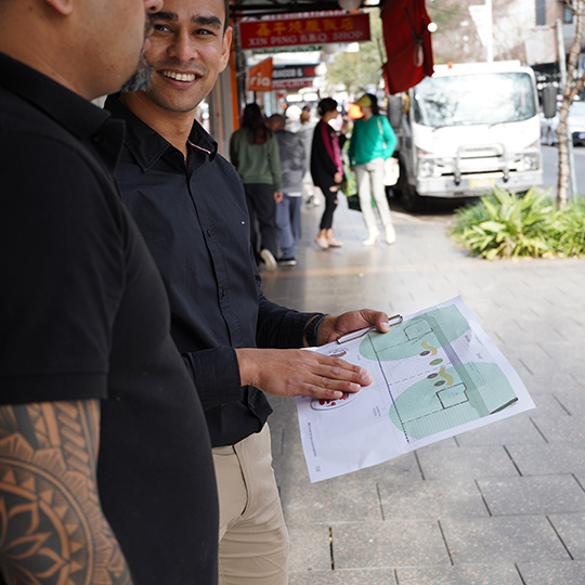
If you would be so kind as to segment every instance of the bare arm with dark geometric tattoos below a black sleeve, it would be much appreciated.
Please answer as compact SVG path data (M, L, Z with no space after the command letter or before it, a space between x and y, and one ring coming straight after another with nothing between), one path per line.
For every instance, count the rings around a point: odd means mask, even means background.
M0 569L8 585L131 585L95 482L98 401L0 406Z

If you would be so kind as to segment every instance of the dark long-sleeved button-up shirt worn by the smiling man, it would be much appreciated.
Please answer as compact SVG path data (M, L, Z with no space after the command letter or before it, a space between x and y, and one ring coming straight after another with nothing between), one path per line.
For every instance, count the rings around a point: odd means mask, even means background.
M258 432L263 394L242 387L234 348L298 348L314 313L269 301L250 246L242 181L195 121L183 154L116 96L106 102L127 123L116 178L162 274L171 334L195 379L213 446Z

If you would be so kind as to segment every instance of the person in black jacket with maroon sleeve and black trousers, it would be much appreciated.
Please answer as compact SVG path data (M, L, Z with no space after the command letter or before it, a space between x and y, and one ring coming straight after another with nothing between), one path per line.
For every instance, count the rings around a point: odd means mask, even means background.
M339 115L337 102L333 98L325 98L318 102L317 114L321 120L313 132L311 176L313 183L321 188L325 197L325 211L321 218L315 244L326 250L327 248L339 248L342 245L333 235L333 216L337 208L337 192L343 180L341 146L346 142L346 136L338 136L337 132L329 126L329 122Z

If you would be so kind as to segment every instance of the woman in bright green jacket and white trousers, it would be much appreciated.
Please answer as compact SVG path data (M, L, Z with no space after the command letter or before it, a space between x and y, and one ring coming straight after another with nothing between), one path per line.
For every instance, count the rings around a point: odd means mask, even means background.
M360 207L368 232L364 246L373 246L380 238L378 221L372 207L372 197L380 214L386 242L393 244L396 235L386 198L384 161L392 156L396 136L390 122L379 115L375 95L365 93L355 103L361 107L364 116L354 122L348 154L358 178Z

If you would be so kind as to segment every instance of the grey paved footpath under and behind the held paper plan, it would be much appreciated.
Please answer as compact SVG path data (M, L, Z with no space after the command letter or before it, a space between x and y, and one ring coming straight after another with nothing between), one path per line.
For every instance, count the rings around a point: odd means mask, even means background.
M295 401L271 396L290 585L584 585L585 259L470 258L446 237L444 213L394 211L398 242L365 248L344 202L344 246L322 251L321 212L303 211L298 266L263 274L269 298L408 314L461 295L536 408L311 484Z

